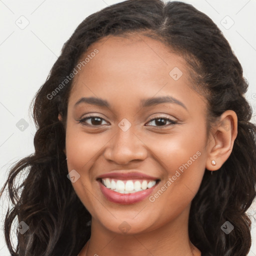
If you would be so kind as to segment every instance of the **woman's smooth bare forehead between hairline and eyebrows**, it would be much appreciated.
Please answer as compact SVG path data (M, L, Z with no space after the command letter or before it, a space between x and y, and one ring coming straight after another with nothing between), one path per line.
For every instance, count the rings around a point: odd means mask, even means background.
M80 60L85 58L86 63L77 69L74 77L71 104L81 96L122 103L120 98L129 98L134 104L136 99L156 94L186 96L190 103L198 100L199 95L190 87L185 60L162 42L147 36L103 37L91 44ZM191 97L191 93L197 98Z

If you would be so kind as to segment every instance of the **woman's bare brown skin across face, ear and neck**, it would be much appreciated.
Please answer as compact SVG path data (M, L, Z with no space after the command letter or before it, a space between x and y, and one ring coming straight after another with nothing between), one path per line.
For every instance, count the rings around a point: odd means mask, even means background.
M237 135L235 112L225 111L207 136L205 98L191 88L181 56L143 35L104 37L84 56L95 48L99 52L74 77L66 120L68 171L80 174L72 185L92 215L89 246L86 243L79 256L87 249L87 256L201 255L188 237L191 200L205 168L219 169L230 155ZM183 73L177 80L169 75L174 67ZM139 105L142 98L164 95L178 99L186 109L175 103ZM82 96L103 98L110 107L86 103L74 107ZM77 121L93 114L103 118L85 121L94 126ZM159 116L177 123L168 125L166 120L163 126L164 122L152 120ZM131 123L125 132L118 127L123 118ZM148 197L126 205L110 202L96 181L111 170L135 168L160 179L154 194L197 151L200 156L153 202ZM127 233L118 228L123 221L130 226Z

